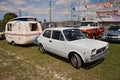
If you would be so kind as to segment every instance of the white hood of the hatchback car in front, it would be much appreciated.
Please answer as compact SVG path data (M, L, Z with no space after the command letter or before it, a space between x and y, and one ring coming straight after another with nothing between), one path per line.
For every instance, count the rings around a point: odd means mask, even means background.
M71 41L70 44L75 45L76 47L84 47L87 49L99 49L107 46L108 43L93 39L80 39Z

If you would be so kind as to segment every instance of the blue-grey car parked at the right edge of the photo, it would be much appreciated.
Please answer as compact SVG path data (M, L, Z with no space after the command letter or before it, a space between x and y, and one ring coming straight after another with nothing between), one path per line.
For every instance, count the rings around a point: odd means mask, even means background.
M103 33L102 40L120 42L120 26L110 26Z

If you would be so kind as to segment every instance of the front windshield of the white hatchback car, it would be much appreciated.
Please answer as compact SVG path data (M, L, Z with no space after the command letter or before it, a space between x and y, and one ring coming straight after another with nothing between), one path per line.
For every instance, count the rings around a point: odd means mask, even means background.
M63 33L68 41L74 41L78 39L83 39L85 36L79 29L66 29L63 30Z

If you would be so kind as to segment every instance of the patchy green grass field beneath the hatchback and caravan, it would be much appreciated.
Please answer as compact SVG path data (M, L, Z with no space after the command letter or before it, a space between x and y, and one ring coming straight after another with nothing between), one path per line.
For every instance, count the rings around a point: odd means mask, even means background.
M12 46L0 41L0 80L120 80L120 43L110 43L103 59L71 66L68 60L41 54L36 45Z

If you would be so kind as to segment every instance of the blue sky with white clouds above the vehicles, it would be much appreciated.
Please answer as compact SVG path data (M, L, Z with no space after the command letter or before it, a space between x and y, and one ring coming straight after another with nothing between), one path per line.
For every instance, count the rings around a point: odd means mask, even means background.
M50 0L0 0L0 19L5 13L14 12L18 16L34 16L40 21L49 21ZM102 2L110 0L101 0ZM84 0L51 0L52 21L71 20L71 3L84 4ZM86 4L95 4L99 0L85 0Z

